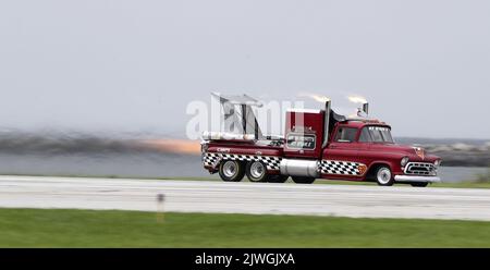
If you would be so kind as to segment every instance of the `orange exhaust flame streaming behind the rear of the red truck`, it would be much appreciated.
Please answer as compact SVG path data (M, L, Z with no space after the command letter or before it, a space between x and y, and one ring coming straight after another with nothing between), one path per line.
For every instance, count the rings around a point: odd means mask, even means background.
M147 139L139 142L146 147L163 152L200 155L200 143L187 139Z

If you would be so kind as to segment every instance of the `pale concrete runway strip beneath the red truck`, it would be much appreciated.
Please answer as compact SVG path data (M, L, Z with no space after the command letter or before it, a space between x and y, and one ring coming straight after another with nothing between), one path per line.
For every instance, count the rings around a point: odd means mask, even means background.
M0 176L0 207L490 221L490 189Z

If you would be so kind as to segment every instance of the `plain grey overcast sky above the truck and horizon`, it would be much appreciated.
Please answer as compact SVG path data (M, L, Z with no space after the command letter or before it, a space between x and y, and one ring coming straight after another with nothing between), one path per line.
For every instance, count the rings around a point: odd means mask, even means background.
M489 14L486 0L1 1L0 127L184 134L186 105L212 90L308 91L365 96L395 136L490 138Z

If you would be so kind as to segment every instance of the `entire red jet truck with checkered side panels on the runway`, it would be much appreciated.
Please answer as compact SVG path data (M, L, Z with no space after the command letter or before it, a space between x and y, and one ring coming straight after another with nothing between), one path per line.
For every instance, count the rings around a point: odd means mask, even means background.
M405 183L427 186L440 182L441 159L424 149L394 143L391 126L367 116L347 118L331 109L291 109L286 112L284 136L264 136L252 110L260 106L244 96L216 95L223 108L241 110L241 133L205 132L203 163L226 182L310 184L316 179L370 181L382 186ZM229 109L230 111L230 109ZM233 109L231 110L232 112ZM359 108L367 115L368 105ZM231 113L225 113L230 116ZM235 114L236 115L236 114Z

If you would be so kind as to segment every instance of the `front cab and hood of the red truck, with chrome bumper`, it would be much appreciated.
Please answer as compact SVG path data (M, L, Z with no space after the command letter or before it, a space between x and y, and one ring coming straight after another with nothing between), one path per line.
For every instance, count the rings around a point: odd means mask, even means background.
M321 177L427 186L440 182L440 162L439 157L427 155L421 148L397 145L391 126L383 122L347 120L335 125L323 149ZM350 167L356 170L347 170Z

